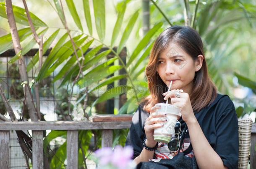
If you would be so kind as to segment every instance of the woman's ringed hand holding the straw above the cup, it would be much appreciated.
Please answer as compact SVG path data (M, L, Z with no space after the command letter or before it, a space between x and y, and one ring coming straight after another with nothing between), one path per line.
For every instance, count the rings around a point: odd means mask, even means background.
M182 90L167 91L163 93L163 96L165 96L164 100L167 100L167 98L170 98L172 105L180 108L182 119L186 123L189 123L190 121L196 120L196 117L194 115L188 93L185 93L185 92L183 93L181 91Z

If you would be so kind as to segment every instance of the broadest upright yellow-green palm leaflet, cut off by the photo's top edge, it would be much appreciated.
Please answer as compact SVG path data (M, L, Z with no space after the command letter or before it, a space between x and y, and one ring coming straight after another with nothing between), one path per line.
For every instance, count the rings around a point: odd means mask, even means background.
M105 2L104 0L93 0L93 9L96 30L101 41L105 38Z

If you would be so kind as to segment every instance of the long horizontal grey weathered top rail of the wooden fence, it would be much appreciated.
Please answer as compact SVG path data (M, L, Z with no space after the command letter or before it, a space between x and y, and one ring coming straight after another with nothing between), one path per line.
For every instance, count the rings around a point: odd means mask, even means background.
M0 130L96 130L129 129L131 121L18 121L0 122Z

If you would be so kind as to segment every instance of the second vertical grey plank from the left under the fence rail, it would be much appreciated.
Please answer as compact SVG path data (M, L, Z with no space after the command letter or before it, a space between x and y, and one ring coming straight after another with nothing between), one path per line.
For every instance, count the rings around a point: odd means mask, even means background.
M43 131L32 131L33 169L44 168Z

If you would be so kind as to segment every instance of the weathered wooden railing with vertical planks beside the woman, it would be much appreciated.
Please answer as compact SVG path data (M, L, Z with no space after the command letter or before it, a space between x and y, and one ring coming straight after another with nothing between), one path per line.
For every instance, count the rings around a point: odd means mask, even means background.
M43 168L43 130L67 130L67 169L78 168L78 130L102 130L102 147L112 146L113 129L128 129L132 115L96 116L93 121L0 122L0 166L10 168L10 132L32 130L33 169ZM227 138L228 139L228 138ZM256 169L256 124L251 129L251 169Z

